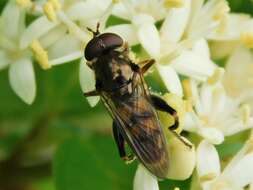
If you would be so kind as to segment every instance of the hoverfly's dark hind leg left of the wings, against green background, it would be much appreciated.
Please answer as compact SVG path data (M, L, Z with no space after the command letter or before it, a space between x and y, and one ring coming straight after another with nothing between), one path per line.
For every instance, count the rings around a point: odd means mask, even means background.
M125 161L126 164L130 164L135 160L135 156L127 155L125 150L125 139L118 130L117 123L114 121L112 124L113 136L116 141L120 158Z

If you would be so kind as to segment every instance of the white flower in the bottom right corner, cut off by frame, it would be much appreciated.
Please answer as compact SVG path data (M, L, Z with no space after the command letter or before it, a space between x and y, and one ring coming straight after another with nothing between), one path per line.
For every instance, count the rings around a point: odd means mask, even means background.
M197 149L197 173L203 190L243 190L253 181L252 140L244 145L222 172L215 147L202 141Z

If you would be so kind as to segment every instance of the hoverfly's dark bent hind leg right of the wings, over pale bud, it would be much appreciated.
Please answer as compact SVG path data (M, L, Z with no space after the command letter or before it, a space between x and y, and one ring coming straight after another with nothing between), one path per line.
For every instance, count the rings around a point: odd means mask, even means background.
M169 114L171 114L174 119L175 119L175 123L174 125L169 127L169 130L172 132L173 135L175 135L176 138L178 138L182 143L184 143L186 146L188 146L189 148L192 148L192 145L190 143L188 143L182 136L180 136L175 130L178 128L179 126L179 121L178 121L178 116L177 116L177 112L175 109L173 109L170 105L167 104L167 102L165 102L162 98L155 96L155 95L151 95L151 101L153 103L153 105L155 106L155 108L157 110L160 111L164 111L167 112Z

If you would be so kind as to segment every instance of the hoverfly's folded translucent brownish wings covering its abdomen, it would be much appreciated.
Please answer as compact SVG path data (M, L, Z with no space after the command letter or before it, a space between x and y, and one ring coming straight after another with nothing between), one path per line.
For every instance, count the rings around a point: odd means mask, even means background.
M103 94L102 100L139 161L155 176L165 178L169 167L166 141L153 105L140 85L136 89L123 98Z

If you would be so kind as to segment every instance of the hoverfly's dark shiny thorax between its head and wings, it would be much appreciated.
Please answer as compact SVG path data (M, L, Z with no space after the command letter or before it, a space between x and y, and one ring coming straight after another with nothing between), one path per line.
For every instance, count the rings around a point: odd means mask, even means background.
M133 76L130 59L122 56L120 52L110 51L100 56L93 66L97 88L115 93L128 91L128 84Z

